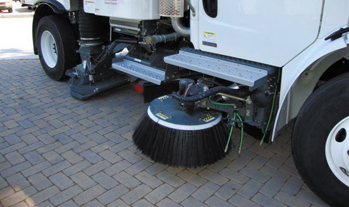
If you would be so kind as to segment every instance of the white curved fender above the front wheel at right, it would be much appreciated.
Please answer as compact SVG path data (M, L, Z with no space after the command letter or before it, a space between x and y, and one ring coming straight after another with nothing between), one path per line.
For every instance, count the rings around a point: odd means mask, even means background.
M342 27L347 27L347 26L348 25L343 25ZM335 29L334 31L337 31L338 29ZM278 124L280 124L281 118L286 119L285 121L286 124L291 119L288 117L288 114L286 115L286 118L281 117L281 112L284 107L286 107L286 110L290 110L288 105L289 100L287 100L287 98L288 98L288 94L291 92L291 89L292 87L294 87L297 80L316 61L335 51L339 51L345 48L349 48L349 33L343 34L341 38L336 39L334 41L325 40L325 37L319 38L312 45L306 48L302 53L300 53L298 56L296 56L294 59L292 59L283 67L282 76L281 76L279 107L275 117L276 121L274 122L274 125L273 125L271 141L274 141L276 132L278 130ZM303 103L301 103L301 105ZM297 113L298 113L298 110L297 110ZM284 125L284 124L281 124L281 125Z

